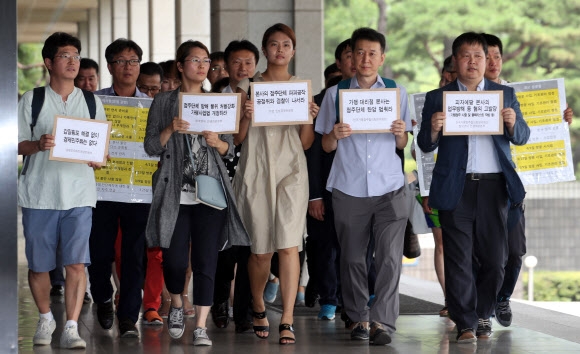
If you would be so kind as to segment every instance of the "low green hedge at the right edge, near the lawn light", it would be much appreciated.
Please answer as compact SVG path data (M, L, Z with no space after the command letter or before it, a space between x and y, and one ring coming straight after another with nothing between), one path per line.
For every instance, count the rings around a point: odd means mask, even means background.
M522 274L528 298L528 272ZM580 301L580 272L534 272L535 301Z

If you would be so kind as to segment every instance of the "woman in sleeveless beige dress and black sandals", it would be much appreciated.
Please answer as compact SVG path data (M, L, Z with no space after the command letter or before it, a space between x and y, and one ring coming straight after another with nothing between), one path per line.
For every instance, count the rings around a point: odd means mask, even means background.
M288 72L294 57L296 36L281 23L268 28L262 38L262 52L267 60L263 73L254 75L254 82L293 81ZM244 117L236 144L244 143L234 177L240 216L252 239L248 271L253 299L254 332L268 338L263 294L270 274L270 261L278 252L280 292L283 313L278 327L280 344L294 344L294 302L300 276L299 249L305 232L308 206L308 172L304 150L314 141L312 124L251 126L253 103L246 100L249 80L238 84L242 92ZM318 114L318 106L310 105L310 113Z

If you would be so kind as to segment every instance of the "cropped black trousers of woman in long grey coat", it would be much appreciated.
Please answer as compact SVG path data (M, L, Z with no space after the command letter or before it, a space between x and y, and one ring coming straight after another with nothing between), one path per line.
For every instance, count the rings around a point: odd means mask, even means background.
M163 277L170 293L183 292L191 242L193 304L211 306L219 241L226 213L226 209L217 210L203 204L179 206L179 215L169 248L161 249Z

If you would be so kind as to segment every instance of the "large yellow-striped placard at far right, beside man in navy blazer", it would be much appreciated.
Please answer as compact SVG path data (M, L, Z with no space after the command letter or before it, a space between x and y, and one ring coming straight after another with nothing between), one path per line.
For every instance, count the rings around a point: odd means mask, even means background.
M509 83L516 91L524 120L530 127L525 145L511 146L524 185L574 181L564 79Z

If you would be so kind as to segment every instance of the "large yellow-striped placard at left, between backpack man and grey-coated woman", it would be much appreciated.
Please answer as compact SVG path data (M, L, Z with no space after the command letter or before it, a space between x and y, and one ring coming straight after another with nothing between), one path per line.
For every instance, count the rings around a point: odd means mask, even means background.
M151 177L159 157L143 148L151 98L99 96L107 120L112 123L105 168L95 170L97 200L151 203Z

